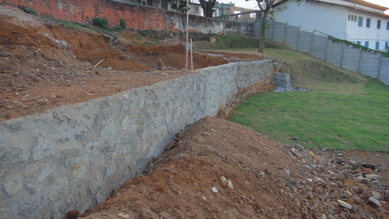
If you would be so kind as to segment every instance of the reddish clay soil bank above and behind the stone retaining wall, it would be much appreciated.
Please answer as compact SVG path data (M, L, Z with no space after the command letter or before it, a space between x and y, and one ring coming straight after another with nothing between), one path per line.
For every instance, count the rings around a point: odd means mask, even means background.
M87 28L74 29L14 8L0 7L0 19L0 121L184 74L182 70L140 72L152 68L159 58L166 67L183 69L185 48L178 39L176 45L170 40L168 45L145 46L139 44L153 39L124 31L111 46L109 37ZM228 63L197 54L194 62L194 69Z

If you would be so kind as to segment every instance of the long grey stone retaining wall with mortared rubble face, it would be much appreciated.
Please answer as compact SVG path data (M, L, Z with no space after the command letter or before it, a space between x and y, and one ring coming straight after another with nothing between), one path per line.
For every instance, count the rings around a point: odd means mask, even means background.
M271 60L195 74L0 123L0 219L62 219L140 174L186 125L272 84Z

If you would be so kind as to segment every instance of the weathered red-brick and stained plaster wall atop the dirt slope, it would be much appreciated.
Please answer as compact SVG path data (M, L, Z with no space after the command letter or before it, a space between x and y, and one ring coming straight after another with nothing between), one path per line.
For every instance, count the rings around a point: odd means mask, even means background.
M126 0L0 0L0 5L27 6L37 13L71 22L90 24L94 17L106 17L109 26L118 26L123 18L126 27L135 30L183 32L186 14L129 4ZM189 16L189 31L198 34L254 35L252 23L209 17Z

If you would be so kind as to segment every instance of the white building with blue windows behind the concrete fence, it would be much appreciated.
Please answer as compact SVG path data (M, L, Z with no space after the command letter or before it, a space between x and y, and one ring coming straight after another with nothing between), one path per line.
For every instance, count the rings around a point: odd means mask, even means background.
M389 45L389 8L364 0L305 0L300 6L291 0L274 4L278 22L299 27L301 31L322 33L346 39L374 50L386 50Z

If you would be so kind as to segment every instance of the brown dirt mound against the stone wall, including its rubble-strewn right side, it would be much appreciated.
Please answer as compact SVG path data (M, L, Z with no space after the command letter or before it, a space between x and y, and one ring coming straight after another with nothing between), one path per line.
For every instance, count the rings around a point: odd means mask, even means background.
M381 201L388 198L388 165L382 166L387 156L381 159L381 176L357 165L355 154L350 157L354 161L334 152L313 155L211 117L177 133L167 149L150 162L144 175L127 181L78 217L388 218L388 204L379 202L378 208L367 204L371 196ZM355 167L350 167L351 162ZM379 175L379 182L370 180L365 171ZM370 188L360 178L367 179ZM289 188L286 181L297 185ZM343 207L338 200L353 206Z

